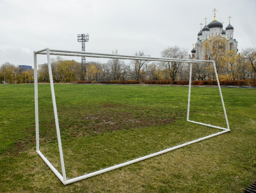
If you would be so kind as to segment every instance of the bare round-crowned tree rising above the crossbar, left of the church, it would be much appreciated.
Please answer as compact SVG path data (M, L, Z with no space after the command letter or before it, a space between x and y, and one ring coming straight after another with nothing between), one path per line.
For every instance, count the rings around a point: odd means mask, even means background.
M186 59L188 55L188 50L185 48L180 48L178 46L169 46L161 51L161 57L163 58L179 58ZM176 74L181 67L180 62L165 62L165 67L168 70L169 76L172 80L176 80Z

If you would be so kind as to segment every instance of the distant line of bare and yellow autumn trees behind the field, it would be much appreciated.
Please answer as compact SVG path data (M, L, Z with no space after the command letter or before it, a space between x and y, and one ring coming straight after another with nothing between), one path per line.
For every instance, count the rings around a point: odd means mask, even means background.
M112 51L118 54L118 51ZM246 80L256 78L256 48L242 49L239 54L227 51L222 55L212 52L211 60L216 63L220 80ZM216 56L214 55L216 54ZM149 56L143 51L136 51L136 56ZM163 58L191 58L188 51L178 46L167 47L161 51ZM48 65L38 65L38 81L49 82ZM60 56L52 58L52 75L54 82L75 82L75 81L188 81L189 63L180 62L150 62L110 59L107 63L86 62L79 63L74 60L66 60ZM25 83L33 82L34 71L20 71L14 64L6 62L0 67L1 83ZM212 63L193 63L192 80L214 81L215 73ZM211 83L212 84L212 83Z

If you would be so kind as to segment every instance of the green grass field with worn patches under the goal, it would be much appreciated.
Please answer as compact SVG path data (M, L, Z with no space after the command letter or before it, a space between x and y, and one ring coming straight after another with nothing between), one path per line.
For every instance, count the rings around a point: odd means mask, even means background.
M40 151L61 171L50 85ZM220 130L186 121L188 87L56 84L67 178ZM242 192L256 179L256 89L222 88L231 132L64 186L36 153L33 85L0 85L0 192ZM192 87L190 120L226 127L217 88Z

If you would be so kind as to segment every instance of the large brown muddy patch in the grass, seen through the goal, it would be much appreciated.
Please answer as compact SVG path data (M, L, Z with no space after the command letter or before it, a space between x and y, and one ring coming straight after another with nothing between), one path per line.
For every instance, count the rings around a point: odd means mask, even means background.
M64 139L70 136L89 136L119 129L161 126L170 124L179 117L178 113L161 108L149 107L144 111L138 106L105 103L84 108L59 108L58 114Z

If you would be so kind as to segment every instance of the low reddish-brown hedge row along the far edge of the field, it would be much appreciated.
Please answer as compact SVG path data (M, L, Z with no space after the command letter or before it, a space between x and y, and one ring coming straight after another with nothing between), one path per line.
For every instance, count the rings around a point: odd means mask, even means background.
M100 83L100 84L140 84L140 83L146 83L151 85L189 85L189 81L162 81L162 80L152 80L152 81L145 81L145 82L139 82L136 80L127 80L127 81L77 81L79 84L89 84L89 83ZM205 86L217 86L217 81L192 81L192 85L205 85ZM220 81L221 86L256 86L256 81L245 81L245 80L239 80L239 81Z

